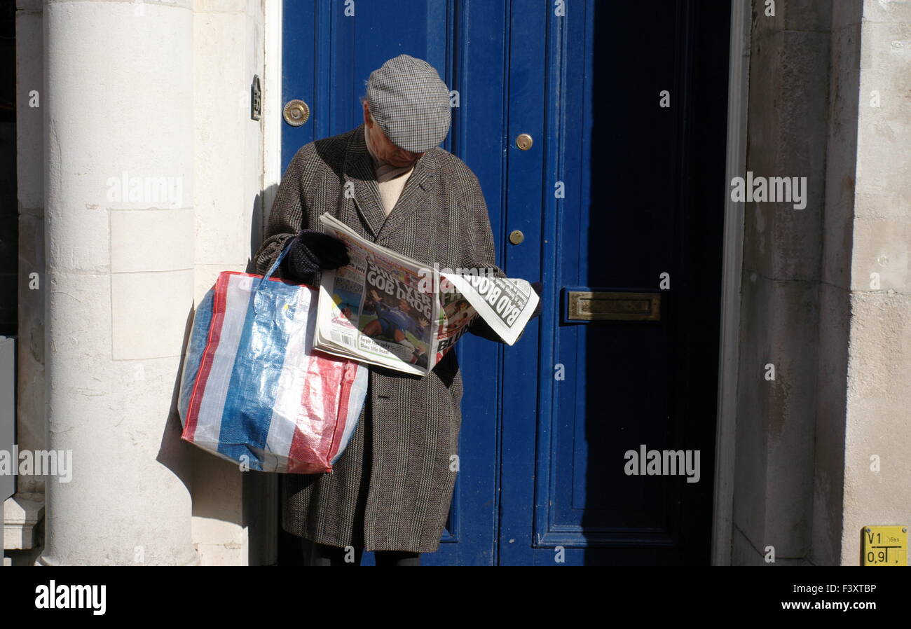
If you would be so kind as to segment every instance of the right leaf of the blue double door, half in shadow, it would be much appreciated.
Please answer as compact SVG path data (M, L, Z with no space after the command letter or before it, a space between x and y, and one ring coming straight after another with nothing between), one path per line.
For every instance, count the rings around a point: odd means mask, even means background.
M520 447L502 461L500 563L709 560L728 18L682 1L568 3L549 17L538 76L554 146L537 240L549 291L537 356L505 354L504 391L527 390L536 358L539 388L537 412L503 421ZM524 156L509 156L512 181ZM513 198L507 232L528 207ZM530 255L519 249L510 273ZM660 320L570 321L579 289L655 294ZM699 451L700 481L627 475L642 444Z

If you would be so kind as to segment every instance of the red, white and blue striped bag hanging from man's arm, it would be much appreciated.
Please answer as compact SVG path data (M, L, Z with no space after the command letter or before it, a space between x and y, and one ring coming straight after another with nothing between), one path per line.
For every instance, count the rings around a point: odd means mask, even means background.
M272 273L222 271L193 318L180 379L181 438L251 470L332 472L367 368L312 350L318 292Z

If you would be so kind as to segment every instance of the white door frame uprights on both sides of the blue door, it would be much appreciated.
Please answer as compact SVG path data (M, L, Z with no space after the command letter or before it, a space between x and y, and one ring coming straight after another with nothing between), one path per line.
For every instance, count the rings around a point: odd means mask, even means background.
M262 216L261 233L281 180L281 41L284 0L263 2L262 80ZM731 0L731 46L728 69L727 180L746 170L746 123L749 94L751 0ZM743 259L742 207L725 188L722 243L722 311L718 357L718 413L715 435L714 509L711 563L729 565L732 555L734 455L737 434L737 380L740 364L740 292ZM277 478L271 479L268 502L278 509ZM277 522L262 526L264 539L250 540L262 549L263 563L277 559Z

